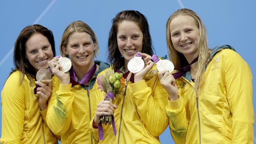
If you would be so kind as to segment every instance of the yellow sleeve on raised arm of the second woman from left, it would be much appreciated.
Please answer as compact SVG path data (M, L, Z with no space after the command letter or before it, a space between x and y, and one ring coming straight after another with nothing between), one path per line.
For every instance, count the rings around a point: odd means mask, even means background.
M53 78L46 123L55 135L64 135L69 129L73 101L74 93L71 92L71 84L63 85L58 79Z

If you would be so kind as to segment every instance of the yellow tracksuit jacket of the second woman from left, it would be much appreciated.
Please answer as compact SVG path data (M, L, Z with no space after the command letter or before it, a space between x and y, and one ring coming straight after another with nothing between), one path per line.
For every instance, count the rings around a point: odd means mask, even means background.
M103 93L95 84L99 72L108 64L95 61L100 65L98 72L90 80L89 87L84 85L63 85L52 78L52 96L48 103L46 122L52 132L61 135L61 144L97 144L89 130L91 118Z

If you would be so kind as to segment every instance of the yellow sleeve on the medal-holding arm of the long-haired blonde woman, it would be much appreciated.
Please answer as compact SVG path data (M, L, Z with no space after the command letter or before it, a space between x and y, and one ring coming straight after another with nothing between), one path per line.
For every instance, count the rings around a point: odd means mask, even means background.
M186 118L186 109L182 105L181 98L178 98L176 101L168 100L166 113L169 117L169 128L173 141L176 144L185 144L189 124Z

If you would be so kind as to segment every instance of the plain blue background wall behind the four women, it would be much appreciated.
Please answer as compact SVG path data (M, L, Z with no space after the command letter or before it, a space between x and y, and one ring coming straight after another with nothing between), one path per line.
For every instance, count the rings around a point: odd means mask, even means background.
M255 6L255 0L1 0L0 90L13 67L15 40L25 26L41 24L52 30L56 51L59 54L59 41L66 26L75 20L82 20L93 28L98 37L98 59L106 61L111 19L119 11L127 9L138 10L148 18L153 45L159 56L167 54L165 25L171 13L183 7L194 10L206 25L209 48L219 44L232 45L247 61L253 77L256 78L256 12L253 10ZM253 79L253 86L255 84L256 81ZM253 96L255 91L254 87ZM255 96L253 103L255 111ZM2 117L0 123L2 124ZM169 128L160 136L160 140L163 144L173 143Z

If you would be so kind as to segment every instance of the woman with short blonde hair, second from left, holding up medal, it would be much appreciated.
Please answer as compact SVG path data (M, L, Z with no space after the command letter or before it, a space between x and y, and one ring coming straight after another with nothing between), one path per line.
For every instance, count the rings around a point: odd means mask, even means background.
M49 62L55 76L46 122L56 135L61 135L61 144L95 144L89 123L102 96L95 79L109 65L94 60L98 41L94 31L82 21L67 26L60 52L62 57L70 58L72 68L64 73L57 59Z

